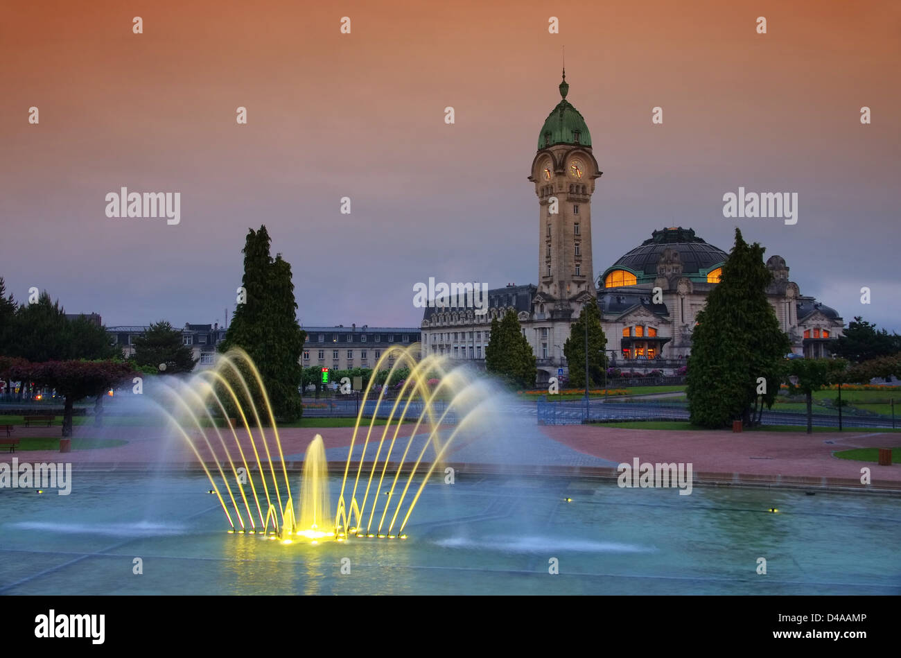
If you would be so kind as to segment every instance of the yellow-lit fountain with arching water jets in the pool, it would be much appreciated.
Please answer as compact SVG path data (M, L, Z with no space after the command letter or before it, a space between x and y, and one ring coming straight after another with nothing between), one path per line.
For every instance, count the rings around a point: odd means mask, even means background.
M300 498L295 501L266 387L246 352L235 349L220 355L213 369L165 387L167 399L159 404L209 479L228 532L263 535L283 544L406 539L405 527L433 471L461 428L489 398L484 379L463 368L451 369L442 356L432 354L417 361L416 349L415 344L391 346L376 364L376 372L389 364L387 381L402 365L411 367L410 375L393 402L386 397L387 385L374 400L370 399L371 380L363 392L334 516L323 437L316 434L306 448ZM440 381L430 388L428 379L435 374ZM369 407L367 426L363 416ZM230 409L239 422L227 422ZM379 414L385 416L386 411L386 424L376 425ZM228 425L225 431L219 426L222 419ZM405 421L414 421L412 430L405 440L398 440ZM243 432L234 425L242 425ZM442 428L449 426L453 427L450 434L442 436ZM426 438L417 441L421 429Z

